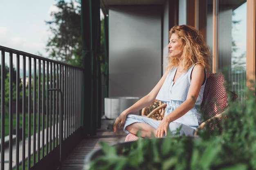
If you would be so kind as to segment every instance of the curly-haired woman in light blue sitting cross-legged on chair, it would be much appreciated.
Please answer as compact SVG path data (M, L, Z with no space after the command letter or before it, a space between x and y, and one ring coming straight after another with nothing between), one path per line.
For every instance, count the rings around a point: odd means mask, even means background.
M168 65L157 85L146 96L124 110L115 120L114 132L124 126L126 133L141 137L164 137L168 133L193 135L202 122L200 104L211 57L202 35L187 25L173 26L169 33ZM167 104L164 119L132 115L155 99ZM179 129L177 131L177 129Z

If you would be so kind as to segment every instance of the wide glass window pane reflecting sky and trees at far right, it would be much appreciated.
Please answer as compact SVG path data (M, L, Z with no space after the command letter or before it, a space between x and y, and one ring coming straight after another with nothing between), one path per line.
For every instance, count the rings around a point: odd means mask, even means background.
M240 97L246 81L246 0L219 0L218 68Z

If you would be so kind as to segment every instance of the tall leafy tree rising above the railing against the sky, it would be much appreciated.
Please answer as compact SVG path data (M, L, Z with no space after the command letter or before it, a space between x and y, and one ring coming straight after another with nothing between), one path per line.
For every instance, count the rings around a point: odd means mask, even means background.
M47 42L50 57L75 66L82 66L81 3L59 0L58 11L51 13L47 21L53 37Z

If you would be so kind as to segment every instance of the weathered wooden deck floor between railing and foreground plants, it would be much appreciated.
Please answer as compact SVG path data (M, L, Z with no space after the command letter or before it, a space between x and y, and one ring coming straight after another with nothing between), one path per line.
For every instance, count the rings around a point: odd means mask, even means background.
M80 144L74 148L72 153L63 160L62 170L84 170L85 158L92 150L100 148L100 141L109 144L124 142L127 133L120 129L114 133L112 129L107 129L112 120L101 120L101 129L97 129L97 135L82 139Z

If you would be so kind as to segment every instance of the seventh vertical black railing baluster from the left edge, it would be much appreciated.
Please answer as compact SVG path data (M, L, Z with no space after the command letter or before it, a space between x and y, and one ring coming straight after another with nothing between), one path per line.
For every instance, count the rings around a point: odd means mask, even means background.
M38 96L37 96L37 162L40 160L40 103L41 103L41 60L38 59Z

